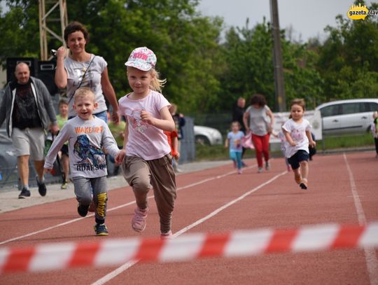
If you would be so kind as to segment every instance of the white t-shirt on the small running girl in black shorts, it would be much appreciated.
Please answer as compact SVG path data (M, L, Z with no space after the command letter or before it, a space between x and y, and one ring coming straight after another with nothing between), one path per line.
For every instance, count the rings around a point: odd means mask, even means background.
M302 119L302 123L295 123L293 119L287 120L283 124L282 129L290 132L291 139L297 143L296 146L290 146L288 141L285 142L286 158L291 158L299 150L309 153L309 139L307 138L306 131L311 131L311 125L308 120Z

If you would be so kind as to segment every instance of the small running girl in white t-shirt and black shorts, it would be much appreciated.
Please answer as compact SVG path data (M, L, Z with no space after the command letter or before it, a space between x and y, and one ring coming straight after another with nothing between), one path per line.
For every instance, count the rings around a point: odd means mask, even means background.
M303 118L304 99L294 99L290 104L290 119L283 124L286 137L285 156L294 172L294 179L300 188L307 189L309 174L309 145L316 146L311 137L311 125Z

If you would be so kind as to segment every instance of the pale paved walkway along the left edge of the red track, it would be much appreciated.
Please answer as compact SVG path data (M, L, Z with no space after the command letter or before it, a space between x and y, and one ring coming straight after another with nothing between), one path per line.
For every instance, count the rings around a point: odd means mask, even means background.
M209 169L220 165L231 164L230 160L221 161L206 161L206 162L190 162L184 165L180 165L181 174L200 171L203 169ZM180 175L180 174L178 174ZM122 174L118 176L111 176L108 178L109 190L125 187L127 182L123 178ZM38 193L38 188L34 187L30 189L31 197L27 199L18 199L20 191L18 188L9 187L1 188L0 190L0 213L6 211L12 211L15 209L21 209L25 207L31 207L37 204L45 204L49 202L55 202L59 200L65 200L75 197L73 193L73 184L69 183L69 188L66 190L60 189L60 184L48 184L47 194L45 197L41 197Z

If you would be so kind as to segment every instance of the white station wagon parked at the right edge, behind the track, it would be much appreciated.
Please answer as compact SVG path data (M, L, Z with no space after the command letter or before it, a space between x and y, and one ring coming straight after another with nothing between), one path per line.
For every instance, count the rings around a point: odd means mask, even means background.
M348 99L316 107L321 112L323 134L364 134L370 131L378 99Z

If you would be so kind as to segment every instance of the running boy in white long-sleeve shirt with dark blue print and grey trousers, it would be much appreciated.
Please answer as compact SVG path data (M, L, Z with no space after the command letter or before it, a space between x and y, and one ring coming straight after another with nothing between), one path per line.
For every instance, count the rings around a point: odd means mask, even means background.
M120 150L106 123L93 116L97 107L94 94L90 88L79 88L73 97L73 109L78 116L68 120L59 135L52 143L45 158L45 171L52 169L58 151L65 141L69 141L69 165L76 200L78 200L78 214L86 216L92 202L92 190L95 211L94 231L96 235L109 235L105 225L106 202L108 187L106 185L106 159L102 148L113 157ZM92 190L91 190L92 188Z

